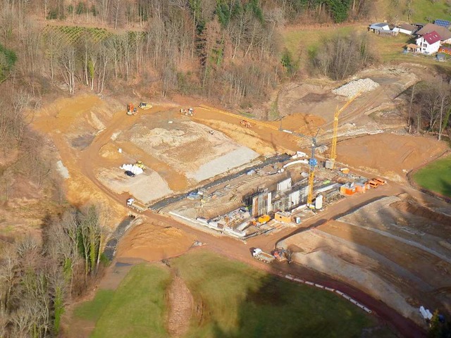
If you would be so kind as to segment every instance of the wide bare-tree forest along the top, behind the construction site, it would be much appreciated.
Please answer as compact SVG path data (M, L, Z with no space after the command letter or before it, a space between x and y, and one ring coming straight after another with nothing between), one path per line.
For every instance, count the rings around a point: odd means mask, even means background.
M32 90L42 91L41 79L63 82L70 94L81 88L101 93L121 82L140 82L153 85L163 96L178 91L237 105L264 98L291 75L280 59L280 27L316 11L345 20L364 0L8 0L4 4L0 41L16 53L20 50L17 70ZM111 32L99 37L94 29L73 25L65 30L43 29L31 15L63 23L91 20ZM119 31L121 27L128 30Z

